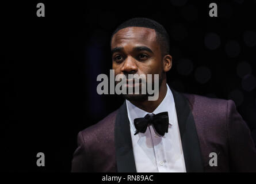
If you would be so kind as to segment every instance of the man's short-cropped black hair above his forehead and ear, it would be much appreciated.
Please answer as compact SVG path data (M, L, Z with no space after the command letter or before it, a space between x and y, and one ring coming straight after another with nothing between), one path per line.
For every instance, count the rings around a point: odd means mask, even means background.
M111 36L111 40L114 34L116 34L120 29L124 29L128 27L143 27L143 28L154 29L156 32L156 40L159 42L161 46L162 55L164 56L166 54L169 54L170 52L169 34L161 24L149 18L137 17L137 18L132 18L123 22L121 25L119 25L116 28L116 30L114 30Z

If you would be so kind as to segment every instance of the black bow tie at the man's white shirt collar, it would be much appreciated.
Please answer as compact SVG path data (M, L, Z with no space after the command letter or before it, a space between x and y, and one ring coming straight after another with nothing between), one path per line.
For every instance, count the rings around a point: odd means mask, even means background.
M150 124L153 125L155 131L159 135L164 136L165 133L168 132L168 112L162 112L158 114L147 114L145 117L135 118L134 125L137 131L135 132L134 135L136 135L139 132L145 133L148 125Z

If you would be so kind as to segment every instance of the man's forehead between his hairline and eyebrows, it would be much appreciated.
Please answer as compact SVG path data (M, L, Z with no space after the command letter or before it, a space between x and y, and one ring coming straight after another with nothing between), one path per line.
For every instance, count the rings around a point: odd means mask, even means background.
M125 47L126 45L145 45L156 47L156 32L154 29L142 27L128 27L120 29L111 41L111 48Z

